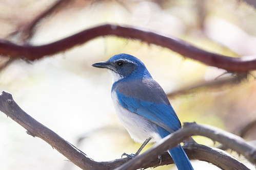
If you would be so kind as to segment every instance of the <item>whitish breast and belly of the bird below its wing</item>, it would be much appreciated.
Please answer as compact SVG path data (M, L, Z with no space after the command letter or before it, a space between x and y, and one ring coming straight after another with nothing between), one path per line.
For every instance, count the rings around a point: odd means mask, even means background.
M117 116L134 141L144 142L149 137L152 138L151 142L161 139L157 133L157 126L145 117L123 108L117 100L115 91L112 92L112 100Z

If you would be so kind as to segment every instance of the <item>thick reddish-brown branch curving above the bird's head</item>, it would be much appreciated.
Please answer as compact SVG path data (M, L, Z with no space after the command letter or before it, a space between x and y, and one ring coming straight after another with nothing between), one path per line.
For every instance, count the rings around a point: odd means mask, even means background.
M178 38L173 38L170 36L167 37L135 27L124 27L110 24L87 29L67 38L39 46L17 45L9 41L0 40L0 54L12 58L23 57L28 60L35 60L44 56L66 51L71 47L83 44L96 37L106 35L139 39L148 43L167 47L185 57L228 71L246 72L256 69L256 56L254 58L228 57L206 52Z

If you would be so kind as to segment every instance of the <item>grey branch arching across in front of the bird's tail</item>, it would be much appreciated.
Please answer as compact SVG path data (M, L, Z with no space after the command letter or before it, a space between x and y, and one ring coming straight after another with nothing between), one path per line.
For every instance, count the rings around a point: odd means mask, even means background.
M161 141L155 143L143 154L136 156L134 159L116 168L116 170L140 168L143 166L144 162L152 160L152 158L156 157L157 155L161 155L162 152L175 147L176 144L186 140L189 136L192 135L205 136L212 140L224 143L225 145L228 145L230 149L244 155L251 163L256 164L256 148L248 145L241 137L207 125L187 123L184 124L182 129L175 131Z

